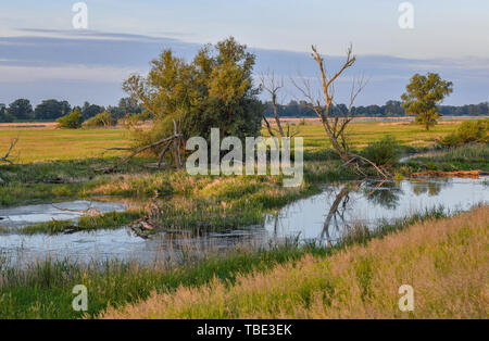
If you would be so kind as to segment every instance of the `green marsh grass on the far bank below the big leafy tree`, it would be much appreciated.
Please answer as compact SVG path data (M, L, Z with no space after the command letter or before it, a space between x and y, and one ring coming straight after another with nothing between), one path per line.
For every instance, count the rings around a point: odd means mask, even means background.
M139 161L141 162L141 161ZM72 167L92 169L90 162L57 162L51 165L33 165L43 169L45 175L66 179ZM21 182L27 175L8 174L10 182L0 187L1 204L63 201L70 199L97 199L98 197L128 198L135 202L149 202L158 198L161 203L158 227L162 229L210 229L222 230L238 226L255 225L263 220L263 215L284 206L294 200L305 198L319 191L316 184L327 179L349 179L354 175L343 172L336 164L311 163L305 166L305 181L297 188L285 188L281 176L190 176L185 171L140 172L133 165L127 173L103 175L93 179L70 184L26 184ZM30 167L26 165L25 167ZM58 168L58 171L57 171ZM8 168L13 172L11 168ZM139 171L139 172L138 172ZM90 171L87 171L87 175ZM73 175L75 176L75 175ZM308 180L311 179L311 181ZM30 200L28 200L30 199ZM35 201L32 201L35 200ZM141 204L143 206L143 204ZM117 219L104 220L105 215L85 224L80 219L80 228L112 228ZM125 225L129 222L122 220ZM78 224L78 225L79 225ZM50 222L25 228L25 232L54 232L71 228L70 222Z

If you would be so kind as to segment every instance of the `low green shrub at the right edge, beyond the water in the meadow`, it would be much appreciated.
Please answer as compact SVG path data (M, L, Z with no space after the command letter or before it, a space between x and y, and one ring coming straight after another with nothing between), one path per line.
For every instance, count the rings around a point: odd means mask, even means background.
M441 144L460 146L472 142L489 142L489 118L464 122L454 132L441 139Z

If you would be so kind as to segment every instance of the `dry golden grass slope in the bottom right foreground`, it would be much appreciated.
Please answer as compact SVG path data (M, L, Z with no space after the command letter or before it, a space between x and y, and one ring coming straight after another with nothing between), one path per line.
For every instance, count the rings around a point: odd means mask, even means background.
M103 318L488 318L489 207L416 224L327 258L153 293ZM398 307L402 285L414 312Z

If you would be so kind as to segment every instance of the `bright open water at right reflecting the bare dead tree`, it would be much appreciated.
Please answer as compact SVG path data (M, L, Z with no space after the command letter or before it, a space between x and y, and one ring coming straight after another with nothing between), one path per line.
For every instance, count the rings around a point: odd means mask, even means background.
M487 180L486 180L487 181ZM375 227L427 210L465 211L489 202L484 179L423 179L421 181L353 181L328 186L321 194L298 201L265 225L275 239L334 243L354 226Z

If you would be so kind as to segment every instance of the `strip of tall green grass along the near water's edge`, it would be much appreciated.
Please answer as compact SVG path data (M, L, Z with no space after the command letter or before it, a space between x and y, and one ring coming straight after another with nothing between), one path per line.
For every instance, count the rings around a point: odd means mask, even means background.
M242 249L227 254L208 254L183 266L165 263L140 266L122 262L83 266L70 261L47 260L18 268L9 266L9 260L2 261L0 255L0 318L82 317L83 314L74 312L71 305L76 285L88 288L88 316L96 316L108 306L121 307L146 300L152 292L168 293L180 287L201 287L216 278L233 285L237 277L252 271L264 273L280 264L293 264L306 254L326 257L355 242L364 243L414 222L437 219L447 214L442 209L432 210L393 224L383 224L376 232L358 228L334 248L287 241L258 251Z

